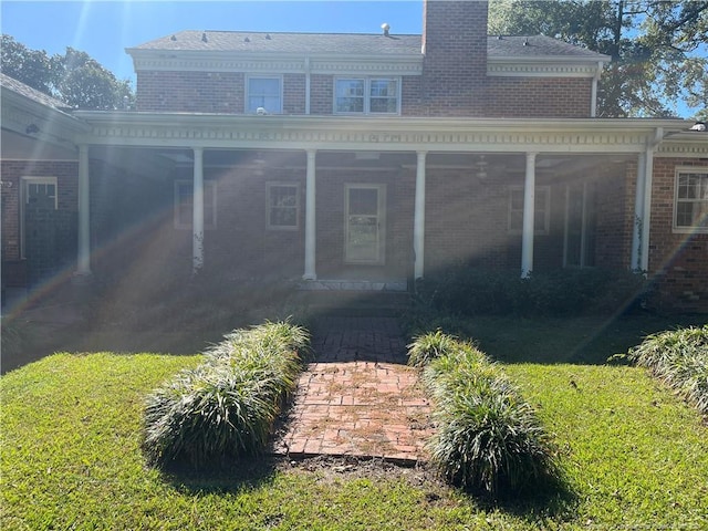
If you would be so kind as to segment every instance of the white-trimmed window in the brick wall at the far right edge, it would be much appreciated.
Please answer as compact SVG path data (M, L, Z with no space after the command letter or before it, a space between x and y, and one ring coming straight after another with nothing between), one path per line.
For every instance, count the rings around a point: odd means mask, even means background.
M708 232L708 168L676 168L674 230Z

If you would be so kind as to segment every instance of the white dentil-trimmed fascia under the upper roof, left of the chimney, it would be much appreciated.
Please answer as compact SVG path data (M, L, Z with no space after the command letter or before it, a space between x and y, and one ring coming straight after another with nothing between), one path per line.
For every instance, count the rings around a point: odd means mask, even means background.
M230 51L126 50L136 72L388 73L420 75L421 55L240 53Z

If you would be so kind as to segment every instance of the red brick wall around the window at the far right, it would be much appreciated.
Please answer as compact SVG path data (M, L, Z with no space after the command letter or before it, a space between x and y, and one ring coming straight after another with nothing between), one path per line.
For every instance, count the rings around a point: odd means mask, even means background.
M675 168L708 168L708 160L654 159L649 272L660 300L681 311L708 311L708 235L673 231Z

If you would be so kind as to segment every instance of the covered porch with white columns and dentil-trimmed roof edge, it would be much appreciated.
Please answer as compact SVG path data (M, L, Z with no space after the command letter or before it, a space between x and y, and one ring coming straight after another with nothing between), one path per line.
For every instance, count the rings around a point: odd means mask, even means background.
M685 125L76 114L92 126L79 139L80 212L90 207L84 158L148 149L170 162L174 230L163 239L179 241L177 267L305 289L399 290L459 261L520 275L648 270L648 222L637 220L649 216L653 150L667 125ZM80 228L85 275L86 216Z

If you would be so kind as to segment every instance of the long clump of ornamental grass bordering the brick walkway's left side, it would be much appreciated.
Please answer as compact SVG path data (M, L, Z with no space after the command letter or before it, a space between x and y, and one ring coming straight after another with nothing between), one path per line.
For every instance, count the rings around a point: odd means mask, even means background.
M154 465L205 465L258 455L309 353L302 327L266 323L236 330L146 400L143 449Z

